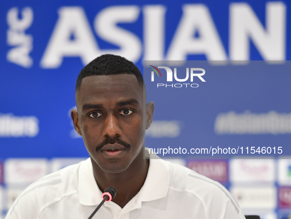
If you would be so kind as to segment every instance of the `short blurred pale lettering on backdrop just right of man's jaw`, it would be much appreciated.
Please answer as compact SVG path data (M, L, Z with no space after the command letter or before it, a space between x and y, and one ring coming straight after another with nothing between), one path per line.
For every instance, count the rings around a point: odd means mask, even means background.
M154 120L146 130L146 137L178 137L181 133L181 124L176 120Z

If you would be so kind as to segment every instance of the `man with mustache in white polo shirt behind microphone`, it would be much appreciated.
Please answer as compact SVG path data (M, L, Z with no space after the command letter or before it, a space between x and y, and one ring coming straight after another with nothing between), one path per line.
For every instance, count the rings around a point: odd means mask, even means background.
M90 159L52 173L16 199L6 219L87 219L101 191L117 190L94 218L244 219L219 183L160 159L144 159L145 130L154 103L146 103L138 68L117 55L102 55L80 72L74 127Z

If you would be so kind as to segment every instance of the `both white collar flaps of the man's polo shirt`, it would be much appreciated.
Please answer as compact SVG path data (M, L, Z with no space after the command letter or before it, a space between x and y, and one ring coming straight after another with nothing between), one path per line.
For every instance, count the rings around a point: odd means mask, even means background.
M170 173L169 166L157 155L150 154L148 148L145 149L146 157L150 158L150 165L147 178L138 192L140 201L152 201L166 196ZM84 161L79 168L79 194L82 205L98 205L102 201L102 192L97 186L93 174L91 159Z

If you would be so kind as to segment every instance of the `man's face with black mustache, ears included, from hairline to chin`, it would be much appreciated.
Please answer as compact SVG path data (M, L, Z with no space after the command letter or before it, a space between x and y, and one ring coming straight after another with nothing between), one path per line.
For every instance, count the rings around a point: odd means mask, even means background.
M78 111L72 110L72 119L92 162L105 172L125 171L142 153L144 130L154 110L152 102L143 109L143 87L136 77L86 77L76 92L76 104Z

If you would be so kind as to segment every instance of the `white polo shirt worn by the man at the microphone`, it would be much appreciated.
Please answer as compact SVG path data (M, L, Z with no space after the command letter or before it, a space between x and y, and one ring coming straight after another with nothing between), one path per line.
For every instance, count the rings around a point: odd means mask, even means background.
M5 219L88 219L101 195L88 159L30 185ZM161 159L150 160L143 187L124 208L105 202L93 217L98 218L245 219L221 184Z

